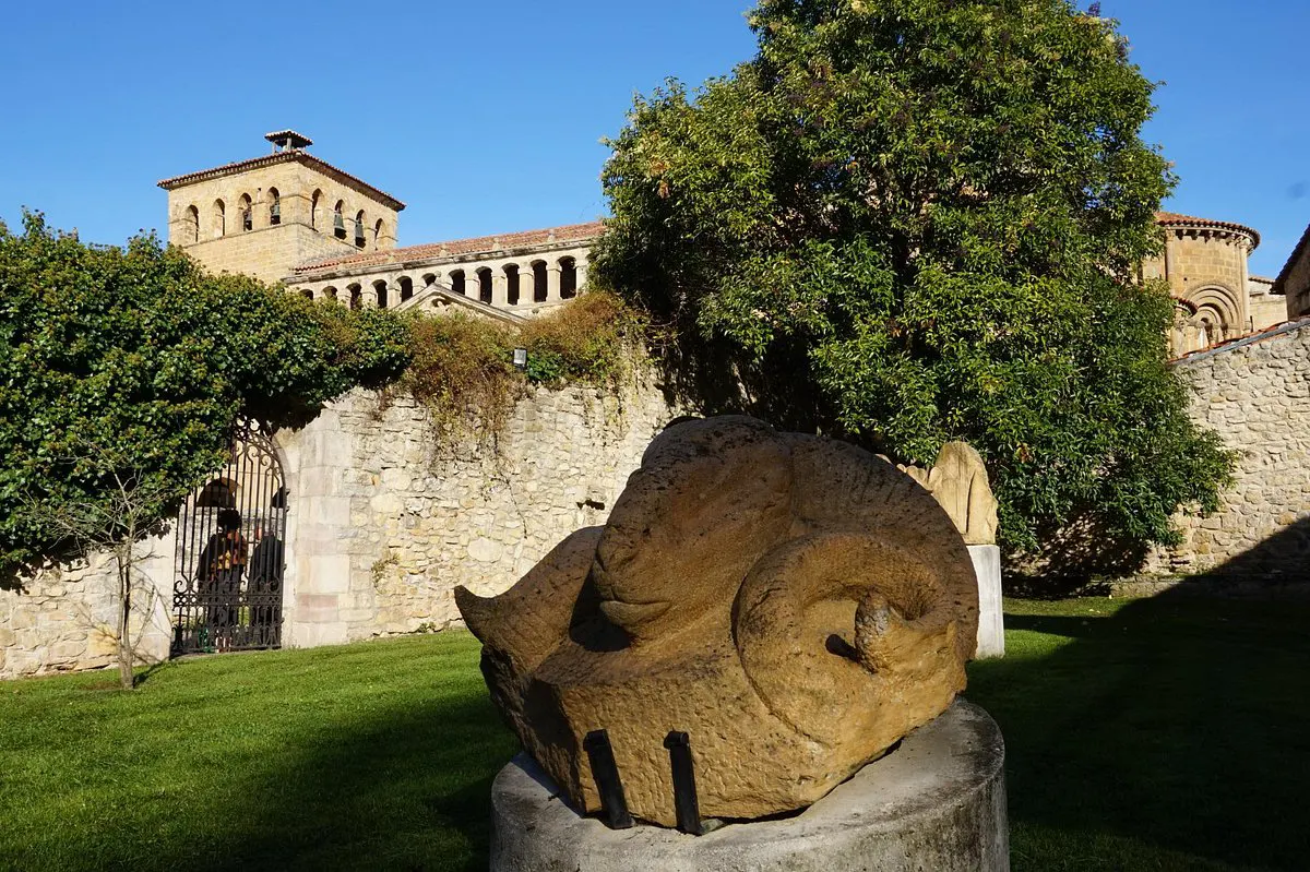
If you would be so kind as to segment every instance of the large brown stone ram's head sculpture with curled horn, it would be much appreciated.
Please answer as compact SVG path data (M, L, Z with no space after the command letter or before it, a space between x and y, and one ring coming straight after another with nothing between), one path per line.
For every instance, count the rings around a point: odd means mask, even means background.
M570 803L600 810L583 740L607 729L631 813L665 826L671 731L703 817L803 808L951 704L977 630L964 542L909 475L738 416L665 431L605 526L456 600Z

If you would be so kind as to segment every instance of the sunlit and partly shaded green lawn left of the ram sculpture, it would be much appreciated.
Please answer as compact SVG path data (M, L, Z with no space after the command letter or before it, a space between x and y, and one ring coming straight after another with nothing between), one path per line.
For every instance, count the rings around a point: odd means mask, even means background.
M0 869L485 869L517 744L476 663L461 634L20 682Z

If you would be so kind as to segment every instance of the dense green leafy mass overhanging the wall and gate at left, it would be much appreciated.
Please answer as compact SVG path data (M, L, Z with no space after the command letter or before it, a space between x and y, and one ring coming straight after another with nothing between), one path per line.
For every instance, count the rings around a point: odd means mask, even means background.
M396 377L409 326L388 316L210 276L153 236L0 225L0 584L148 533L221 465L238 414L299 423Z

